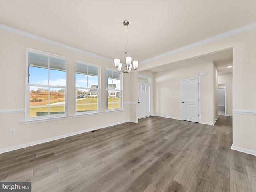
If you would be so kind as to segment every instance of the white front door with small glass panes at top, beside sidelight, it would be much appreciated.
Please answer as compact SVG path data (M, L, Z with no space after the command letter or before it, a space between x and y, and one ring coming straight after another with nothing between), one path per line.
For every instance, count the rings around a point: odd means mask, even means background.
M144 82L138 82L138 118L150 116L150 85Z

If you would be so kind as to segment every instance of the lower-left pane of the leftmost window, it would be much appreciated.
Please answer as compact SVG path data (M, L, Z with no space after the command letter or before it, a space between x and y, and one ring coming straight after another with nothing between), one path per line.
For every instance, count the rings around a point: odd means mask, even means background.
M48 115L48 88L30 86L29 94L29 117Z

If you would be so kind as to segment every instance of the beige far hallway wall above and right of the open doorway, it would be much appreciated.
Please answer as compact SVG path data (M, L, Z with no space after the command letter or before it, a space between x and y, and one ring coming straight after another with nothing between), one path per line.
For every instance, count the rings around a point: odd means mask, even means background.
M224 73L218 75L218 83L227 84L227 115L233 114L233 73ZM225 88L225 87L224 87Z

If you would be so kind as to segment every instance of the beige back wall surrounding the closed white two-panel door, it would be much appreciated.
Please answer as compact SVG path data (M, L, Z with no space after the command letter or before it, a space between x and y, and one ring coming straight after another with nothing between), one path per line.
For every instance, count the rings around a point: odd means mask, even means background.
M206 72L205 76L199 76ZM213 62L196 64L154 73L154 114L180 119L180 81L200 78L201 122L213 124L216 118L216 98L214 89L218 82ZM217 110L218 113L218 110Z

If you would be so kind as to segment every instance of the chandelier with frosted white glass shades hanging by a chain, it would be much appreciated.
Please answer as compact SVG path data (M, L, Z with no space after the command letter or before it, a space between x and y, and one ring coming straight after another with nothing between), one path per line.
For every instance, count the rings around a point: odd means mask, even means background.
M126 40L126 36L127 36L126 27L129 25L129 22L125 20L123 22L123 24L125 26L125 54L127 55L127 50L126 50L126 48L127 48L127 46L126 46L126 42L127 42L127 40ZM130 73L136 72L136 69L138 68L138 61L133 61L132 62L132 57L130 57L130 56L127 56L125 58L125 70L124 71L122 71L122 63L120 63L120 59L118 59L118 58L114 59L114 63L115 63L116 69L118 70L118 73L128 73L128 74L130 74ZM133 68L134 68L135 71L132 71L132 64L133 64Z

